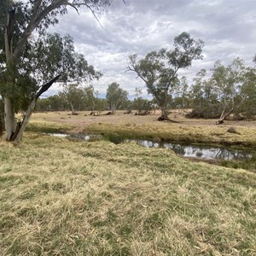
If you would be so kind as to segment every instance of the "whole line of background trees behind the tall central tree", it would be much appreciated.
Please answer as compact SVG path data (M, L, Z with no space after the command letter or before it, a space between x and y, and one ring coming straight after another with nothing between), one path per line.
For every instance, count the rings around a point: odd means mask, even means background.
M92 85L78 88L72 84L65 87L57 96L50 96L38 101L38 110L90 110L99 113L109 110L115 113L116 109L138 114L151 113L160 108L160 96L148 101L141 97L141 91L136 90L136 98L128 100L128 92L119 87L119 84L108 85L106 99L98 97ZM158 99L158 100L157 100ZM161 102L160 102L161 103ZM210 72L201 69L195 76L193 84L188 84L185 77L176 79L166 98L163 97L163 106L168 115L170 108L190 108L190 118L218 119L221 123L230 113L236 118L251 119L256 115L256 70L255 67L246 67L244 61L236 58L226 67L216 61Z

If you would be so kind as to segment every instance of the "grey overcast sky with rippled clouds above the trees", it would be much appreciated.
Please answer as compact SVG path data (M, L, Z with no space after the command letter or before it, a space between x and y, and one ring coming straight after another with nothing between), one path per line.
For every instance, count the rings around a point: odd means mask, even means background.
M68 10L51 32L69 33L76 50L102 71L102 79L91 83L102 96L112 82L119 83L130 96L136 87L143 88L146 96L143 81L135 73L125 72L127 57L172 49L173 38L181 32L205 42L203 60L194 61L192 67L179 73L189 82L201 68L210 70L217 60L228 64L241 57L253 66L255 0L113 0L107 12L97 15L104 29L88 10L80 10L79 15L74 9Z

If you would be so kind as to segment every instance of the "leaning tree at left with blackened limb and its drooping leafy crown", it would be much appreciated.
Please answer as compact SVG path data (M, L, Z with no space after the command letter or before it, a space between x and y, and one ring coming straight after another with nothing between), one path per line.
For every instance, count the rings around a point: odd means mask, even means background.
M26 46L26 55L22 55L22 58L22 62L18 62L15 67L15 83L3 83L1 86L3 95L12 99L14 112L22 109L26 113L15 125L15 131L12 131L9 138L15 143L20 142L38 97L55 81L62 84L63 95L75 113L73 102L77 102L78 84L85 80L99 79L102 75L88 64L84 55L75 52L73 38L69 35L61 37L56 33L45 33L40 38L31 39Z

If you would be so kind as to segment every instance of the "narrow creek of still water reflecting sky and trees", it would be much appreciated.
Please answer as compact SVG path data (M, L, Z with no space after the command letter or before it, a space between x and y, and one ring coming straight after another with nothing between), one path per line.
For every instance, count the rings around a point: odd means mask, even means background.
M53 133L55 137L69 137L87 142L106 139L100 134L60 134ZM215 148L209 145L186 145L183 143L154 143L148 140L122 139L120 137L108 137L112 143L137 143L146 148L167 148L172 149L176 154L184 157L201 158L204 160L250 160L253 158L253 151L233 148ZM255 153L254 153L255 154Z

